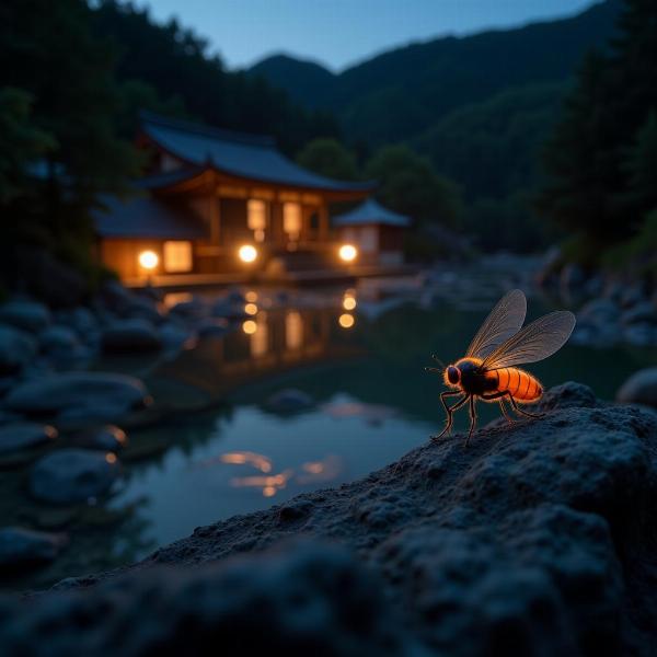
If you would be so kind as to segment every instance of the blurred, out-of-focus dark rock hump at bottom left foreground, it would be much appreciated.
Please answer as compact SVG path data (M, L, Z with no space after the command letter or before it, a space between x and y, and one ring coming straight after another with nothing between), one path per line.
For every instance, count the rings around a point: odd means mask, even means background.
M97 590L4 596L0 614L8 655L428 655L374 576L345 551L308 544Z

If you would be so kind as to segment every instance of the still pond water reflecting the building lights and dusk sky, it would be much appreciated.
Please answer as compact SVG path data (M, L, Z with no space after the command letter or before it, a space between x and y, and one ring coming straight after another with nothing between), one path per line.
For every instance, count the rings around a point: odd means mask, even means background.
M146 369L125 362L160 402L223 401L131 430L124 477L89 510L83 531L72 530L76 549L36 584L143 557L198 526L355 480L422 445L445 420L441 382L424 366L431 354L462 356L500 295L484 285L464 297L458 280L430 290L400 281L249 290L252 315L224 336ZM552 308L530 297L528 319ZM528 369L548 388L577 380L611 400L630 373L655 362L645 349L567 345ZM285 407L276 395L289 390L303 395L288 393ZM480 426L499 413L479 408ZM456 430L468 423L463 410Z

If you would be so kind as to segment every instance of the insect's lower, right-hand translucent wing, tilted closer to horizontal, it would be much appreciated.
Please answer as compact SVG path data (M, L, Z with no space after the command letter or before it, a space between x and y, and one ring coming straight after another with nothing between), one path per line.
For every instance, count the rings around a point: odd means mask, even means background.
M482 364L487 369L537 362L558 351L575 327L575 315L567 310L551 312L509 337Z

